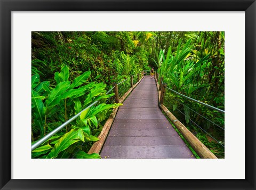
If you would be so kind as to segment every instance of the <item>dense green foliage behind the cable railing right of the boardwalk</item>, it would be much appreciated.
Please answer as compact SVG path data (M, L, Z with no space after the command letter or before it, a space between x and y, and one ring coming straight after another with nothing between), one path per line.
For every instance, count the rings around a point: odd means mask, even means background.
M175 35L180 36L182 33L169 34L170 36L161 33L160 37L157 36L158 42L165 35L173 39ZM159 77L163 77L167 87L181 94L224 109L224 32L185 32L184 34L179 41L173 40L173 43L169 43L177 44L177 46L170 46L167 53L159 49L156 59ZM173 94L169 90L166 91L165 105L173 110L175 117L186 126L191 126L193 133L202 134L205 130L219 139L219 142L225 141L224 131L219 127L225 126L224 114L187 101L186 98ZM203 130L198 128L194 122ZM223 158L223 147L209 135L206 138L206 135L205 133L204 136L201 135L198 138L210 150L214 150L215 153L219 152L218 156Z

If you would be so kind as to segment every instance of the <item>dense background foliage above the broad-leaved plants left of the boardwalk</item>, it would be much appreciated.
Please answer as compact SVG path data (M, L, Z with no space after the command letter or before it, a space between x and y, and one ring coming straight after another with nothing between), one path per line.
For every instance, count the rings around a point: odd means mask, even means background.
M33 75L42 81L66 81L63 65L69 67L69 80L91 71L92 81L110 86L118 75L135 75L148 65L154 32L32 32ZM143 33L143 32L142 32ZM151 35L150 37L149 34ZM135 47L133 40L144 42ZM64 68L63 68L64 69ZM82 73L83 73L82 72ZM60 74L60 76L59 76ZM113 78L114 77L114 78ZM55 78L55 79L54 79ZM70 87L71 88L71 87Z

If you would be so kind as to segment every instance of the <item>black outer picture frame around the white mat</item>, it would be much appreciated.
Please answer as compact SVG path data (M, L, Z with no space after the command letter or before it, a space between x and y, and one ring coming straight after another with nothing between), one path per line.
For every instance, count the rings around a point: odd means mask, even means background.
M255 0L0 0L1 189L255 189ZM12 11L245 11L245 179L11 179ZM238 100L239 101L239 100ZM235 166L234 166L235 167Z

